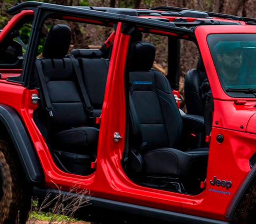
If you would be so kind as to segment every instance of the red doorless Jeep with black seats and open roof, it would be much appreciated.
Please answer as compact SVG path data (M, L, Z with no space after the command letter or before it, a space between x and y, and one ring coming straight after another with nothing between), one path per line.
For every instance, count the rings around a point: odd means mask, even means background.
M42 2L9 13L0 33L1 223L18 213L25 222L32 194L74 185L90 191L83 220L256 222L255 19ZM76 26L112 34L100 49L73 49ZM159 35L167 76L152 69ZM176 104L181 41L200 55L185 78L187 114Z

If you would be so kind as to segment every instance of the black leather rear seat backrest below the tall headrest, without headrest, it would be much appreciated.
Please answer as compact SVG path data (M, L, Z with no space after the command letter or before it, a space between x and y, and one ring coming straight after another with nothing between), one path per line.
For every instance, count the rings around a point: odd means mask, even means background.
M54 111L52 130L79 127L88 120L69 58L43 58L42 70Z

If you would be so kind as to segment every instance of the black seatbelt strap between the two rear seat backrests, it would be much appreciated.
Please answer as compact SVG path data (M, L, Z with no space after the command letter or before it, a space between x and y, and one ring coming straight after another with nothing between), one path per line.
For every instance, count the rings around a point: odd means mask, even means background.
M84 107L86 109L88 117L89 117L89 119L94 119L93 107L90 103L89 96L88 96L88 94L86 92L86 88L83 84L84 82L83 82L83 79L82 79L82 72L80 70L79 62L78 62L78 60L76 60L76 58L73 55L68 55L68 57L71 59L73 68L75 70L76 78L77 78L78 85L79 85L79 88L80 88L80 92L81 92L81 95L82 95L82 100L84 102Z

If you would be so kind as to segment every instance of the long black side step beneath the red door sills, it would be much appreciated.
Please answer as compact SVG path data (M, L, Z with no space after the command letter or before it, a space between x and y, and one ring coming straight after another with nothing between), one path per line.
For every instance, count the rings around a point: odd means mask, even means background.
M70 192L47 189L47 188L34 187L34 190L33 190L33 194L39 198L44 197L46 194L49 194L49 193L51 197L54 197L54 195L58 195L58 194L72 195L70 194ZM88 196L84 196L84 197L87 198ZM118 202L118 201L108 200L104 198L90 197L89 199L90 199L89 201L90 204L88 206L92 206L94 209L103 208L103 209L111 210L113 212L113 216L116 216L116 214L118 214L116 212L124 212L126 214L130 214L134 216L139 215L147 218L155 218L162 222L164 221L164 222L183 223L183 224L188 224L188 223L190 224L230 224L229 222L225 222L225 221L214 220L214 219L204 218L199 216L192 216L188 214L171 212L167 210L150 208L146 206L129 204L125 202ZM88 206L84 206L84 209L86 210Z

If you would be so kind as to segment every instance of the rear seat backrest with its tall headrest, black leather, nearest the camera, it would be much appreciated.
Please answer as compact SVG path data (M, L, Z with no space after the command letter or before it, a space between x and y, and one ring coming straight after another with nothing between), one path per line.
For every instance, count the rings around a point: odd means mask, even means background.
M52 132L82 126L87 120L76 74L70 58L65 58L70 46L71 30L66 25L54 25L49 30L41 61L46 90L53 108L47 119Z

